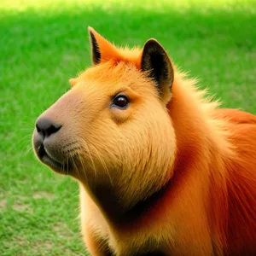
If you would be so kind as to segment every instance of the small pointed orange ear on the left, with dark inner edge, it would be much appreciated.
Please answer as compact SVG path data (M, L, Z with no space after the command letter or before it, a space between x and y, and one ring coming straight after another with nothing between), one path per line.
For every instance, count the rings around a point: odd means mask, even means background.
M119 52L113 44L108 42L107 39L103 38L92 27L89 26L88 31L90 34L92 63L94 65L110 59L119 58Z

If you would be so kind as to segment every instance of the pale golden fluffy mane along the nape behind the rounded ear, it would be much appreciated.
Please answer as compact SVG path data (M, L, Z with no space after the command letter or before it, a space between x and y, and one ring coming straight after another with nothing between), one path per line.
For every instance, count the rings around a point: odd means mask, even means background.
M224 116L220 118L216 114L218 109L221 109L222 102L214 100L214 95L209 92L208 88L200 89L198 82L198 79L188 79L188 73L184 73L175 67L174 98L171 99L167 108L171 110L172 102L180 100L177 98L178 96L176 97L176 92L183 95L183 98L187 101L186 105L194 109L196 113L193 115L204 126L214 146L218 147L223 155L234 155L236 145L230 141L230 137L233 134L230 130L231 117ZM191 112L190 108L188 108L189 113Z

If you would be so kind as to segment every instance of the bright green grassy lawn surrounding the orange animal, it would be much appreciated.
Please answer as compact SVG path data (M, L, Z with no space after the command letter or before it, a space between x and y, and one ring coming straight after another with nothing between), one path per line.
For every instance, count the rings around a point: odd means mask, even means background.
M256 113L255 0L1 0L0 255L85 253L78 185L38 163L31 137L90 65L87 26L119 45L157 38L224 107Z

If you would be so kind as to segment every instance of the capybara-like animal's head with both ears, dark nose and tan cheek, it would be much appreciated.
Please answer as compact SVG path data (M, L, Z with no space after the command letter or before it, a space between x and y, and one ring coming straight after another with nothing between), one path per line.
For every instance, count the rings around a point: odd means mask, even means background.
M118 49L89 33L93 65L38 117L33 148L55 172L90 188L113 186L129 204L172 176L172 61L154 39Z

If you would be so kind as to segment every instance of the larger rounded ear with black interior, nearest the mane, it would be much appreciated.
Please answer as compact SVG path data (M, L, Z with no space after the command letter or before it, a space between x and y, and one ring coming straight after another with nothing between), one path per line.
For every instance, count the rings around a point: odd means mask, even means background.
M171 95L174 79L172 61L155 39L149 39L144 44L141 69L149 78L154 79L161 97Z

